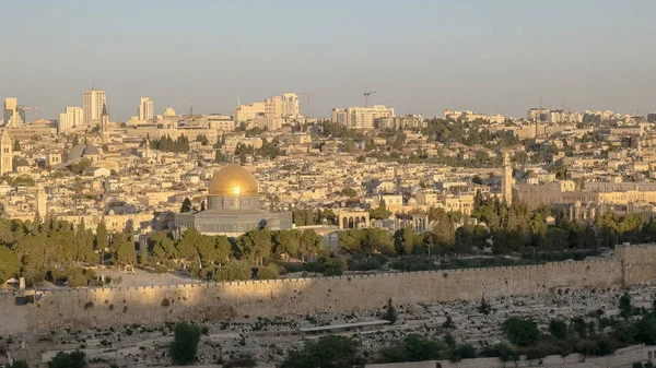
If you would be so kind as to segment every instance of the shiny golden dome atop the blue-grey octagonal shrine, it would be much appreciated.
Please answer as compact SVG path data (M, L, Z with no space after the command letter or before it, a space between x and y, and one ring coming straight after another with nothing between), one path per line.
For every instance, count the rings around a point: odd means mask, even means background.
M257 180L253 174L237 164L230 164L214 173L208 195L238 197L257 195Z

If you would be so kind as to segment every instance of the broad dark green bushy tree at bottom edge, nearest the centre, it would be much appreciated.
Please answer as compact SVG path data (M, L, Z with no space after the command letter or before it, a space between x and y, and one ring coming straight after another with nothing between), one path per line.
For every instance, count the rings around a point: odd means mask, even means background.
M356 343L344 336L327 335L307 341L303 349L291 352L282 368L352 368L359 363Z

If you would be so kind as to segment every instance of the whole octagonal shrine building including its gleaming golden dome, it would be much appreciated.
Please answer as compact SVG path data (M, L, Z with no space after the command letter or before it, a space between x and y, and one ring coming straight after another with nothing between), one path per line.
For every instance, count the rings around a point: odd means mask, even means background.
M257 228L292 228L290 212L260 210L258 183L248 170L230 164L214 173L208 187L208 210L177 213L169 228L196 228L202 234L239 236Z

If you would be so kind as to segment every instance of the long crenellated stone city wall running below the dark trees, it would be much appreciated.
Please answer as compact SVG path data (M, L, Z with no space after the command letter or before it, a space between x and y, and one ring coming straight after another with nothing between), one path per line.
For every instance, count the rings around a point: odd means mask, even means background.
M356 276L43 292L34 304L0 295L0 335L233 317L351 312L397 305L478 300L629 287L656 277L656 246L618 249L613 259L541 265Z

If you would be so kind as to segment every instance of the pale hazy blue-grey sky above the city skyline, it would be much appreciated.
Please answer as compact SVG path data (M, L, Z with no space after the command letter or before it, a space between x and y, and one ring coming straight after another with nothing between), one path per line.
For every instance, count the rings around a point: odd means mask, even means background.
M522 117L537 107L656 111L653 0L0 0L0 98L57 119L105 90L112 120L232 115L237 98L318 93ZM305 111L305 97L301 96ZM31 119L28 112L28 119Z

